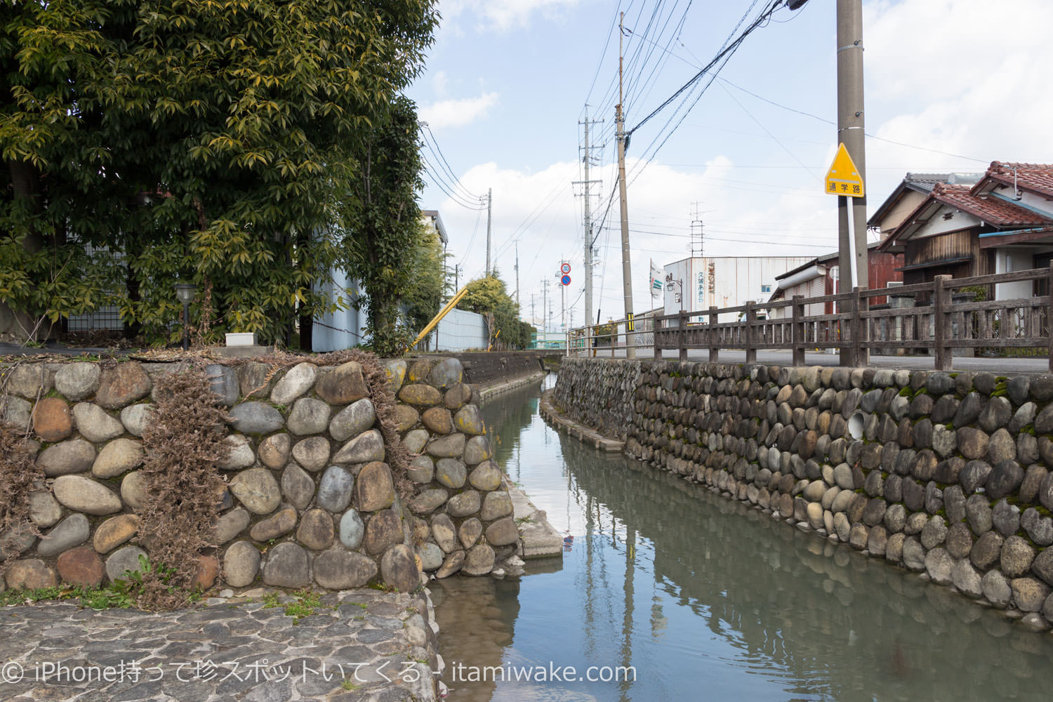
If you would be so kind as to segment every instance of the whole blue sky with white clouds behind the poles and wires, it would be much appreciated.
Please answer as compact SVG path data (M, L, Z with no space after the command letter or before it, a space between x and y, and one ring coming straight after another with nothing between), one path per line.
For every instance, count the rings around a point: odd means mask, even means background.
M634 312L656 306L649 263L691 255L818 256L837 247L822 189L837 148L834 0L780 7L738 49L644 121L757 17L767 0L440 0L418 105L428 183L461 285L494 265L540 324L583 322L583 125L593 148L593 318L620 319L614 104L624 56ZM909 173L1053 163L1053 2L865 0L868 216ZM741 21L741 24L739 24ZM737 27L737 28L736 28ZM720 64L718 64L720 65ZM588 107L587 107L588 104ZM602 120L602 122L599 122ZM575 184L575 181L578 181ZM453 196L453 197L451 197ZM571 284L556 274L571 265ZM562 293L562 295L561 295ZM533 312L532 312L533 301ZM563 308L565 306L565 313Z

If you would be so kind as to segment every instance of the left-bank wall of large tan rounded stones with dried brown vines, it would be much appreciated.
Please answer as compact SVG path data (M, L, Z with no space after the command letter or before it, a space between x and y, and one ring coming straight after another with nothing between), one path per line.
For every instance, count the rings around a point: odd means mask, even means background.
M98 586L138 567L140 437L154 379L179 370L136 361L0 368L0 418L27 427L46 476L34 525L0 588ZM459 361L385 362L415 495L402 504L376 407L357 362L258 362L205 368L232 421L214 553L198 583L414 590L421 573L489 574L518 530ZM0 496L0 499L3 499ZM6 555L0 554L0 560ZM5 582L4 582L5 581Z

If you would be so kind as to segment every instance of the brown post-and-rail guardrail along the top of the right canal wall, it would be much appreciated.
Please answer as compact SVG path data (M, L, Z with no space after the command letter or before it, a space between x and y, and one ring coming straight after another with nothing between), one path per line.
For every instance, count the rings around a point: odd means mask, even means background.
M987 288L1014 282L1038 282L1044 295L1013 300L953 301L954 290ZM709 360L719 360L722 349L746 350L747 363L757 360L757 352L789 349L793 364L804 364L808 349L838 348L841 365L867 363L871 349L906 353L932 352L937 370L952 369L956 348L1005 352L1037 348L1050 359L1053 372L1053 263L1049 268L1015 270L993 276L935 280L896 288L853 288L849 293L769 303L748 302L737 307L710 307L704 313L678 313L579 327L568 333L568 355L614 357L619 350L632 356L636 349L651 348L654 358L662 350L676 349L686 360L690 349L707 349ZM873 298L894 295L911 297L914 306L870 308ZM806 315L809 305L833 303L833 314ZM721 315L737 315L735 321L719 321Z

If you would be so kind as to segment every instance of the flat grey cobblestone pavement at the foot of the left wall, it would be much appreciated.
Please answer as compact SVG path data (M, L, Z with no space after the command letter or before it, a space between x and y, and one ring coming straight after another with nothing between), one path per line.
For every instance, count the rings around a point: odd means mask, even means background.
M347 590L322 596L314 609L295 621L282 605L222 598L170 613L2 607L0 699L436 699L437 638L424 595Z

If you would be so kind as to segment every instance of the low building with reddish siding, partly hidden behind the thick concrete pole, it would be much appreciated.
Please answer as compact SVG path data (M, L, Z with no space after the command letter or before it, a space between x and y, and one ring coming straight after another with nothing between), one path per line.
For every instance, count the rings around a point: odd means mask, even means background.
M879 245L880 242L875 241L867 247L870 288L901 285L903 275L898 268L901 266L902 257L895 253L879 252L877 250ZM838 253L832 252L818 256L781 276L776 276L775 292L772 293L769 302L791 300L796 295L816 298L839 293L838 267ZM871 298L870 306L882 305L887 302L888 299L883 296ZM772 316L776 319L790 317L791 314L789 307L772 310ZM804 305L806 317L832 314L834 314L833 302L813 302Z

